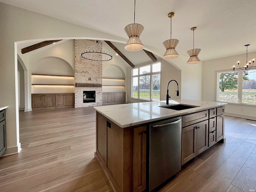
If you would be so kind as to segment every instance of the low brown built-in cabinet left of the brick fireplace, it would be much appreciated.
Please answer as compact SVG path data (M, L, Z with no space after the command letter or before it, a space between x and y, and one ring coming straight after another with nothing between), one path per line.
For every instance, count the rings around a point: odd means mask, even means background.
M74 107L74 93L32 94L32 109Z

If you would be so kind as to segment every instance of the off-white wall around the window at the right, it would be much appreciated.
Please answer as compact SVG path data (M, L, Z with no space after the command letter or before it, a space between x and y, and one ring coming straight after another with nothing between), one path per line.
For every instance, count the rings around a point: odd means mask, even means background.
M248 58L256 58L256 52L249 53ZM217 72L225 70L230 70L231 72L234 65L237 67L237 61L240 61L240 63L246 63L246 54L204 61L202 79L203 100L216 101ZM242 111L241 108L244 108L245 110ZM256 119L256 106L228 104L226 105L225 113L239 117Z

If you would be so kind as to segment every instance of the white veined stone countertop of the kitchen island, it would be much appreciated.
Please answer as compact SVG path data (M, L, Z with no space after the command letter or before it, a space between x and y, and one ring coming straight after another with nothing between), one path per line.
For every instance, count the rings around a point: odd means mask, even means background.
M166 101L155 101L155 102L142 102L142 103L129 103L119 105L108 105L108 106L96 106L94 109L120 126L126 128L156 120L162 120L166 118L183 116L194 112L208 110L224 106L227 103L221 102L208 102L208 101L197 101L197 100L169 100L169 105L176 104L187 104L199 106L196 108L190 108L185 110L172 110L166 109L159 106L166 106Z

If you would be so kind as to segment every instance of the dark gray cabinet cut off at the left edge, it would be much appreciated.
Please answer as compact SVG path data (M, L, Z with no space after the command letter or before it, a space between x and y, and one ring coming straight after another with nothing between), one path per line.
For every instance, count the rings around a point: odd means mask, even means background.
M6 122L5 110L0 111L0 155L6 150Z

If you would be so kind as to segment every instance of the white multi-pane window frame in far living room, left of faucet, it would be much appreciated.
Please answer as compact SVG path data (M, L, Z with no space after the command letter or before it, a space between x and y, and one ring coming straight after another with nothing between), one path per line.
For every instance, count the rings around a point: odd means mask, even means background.
M154 64L158 64L160 63L160 71L158 72L152 72L152 69L153 69L153 65ZM142 67L145 67L145 66L150 66L150 72L149 73L145 73L145 74L140 74L140 68ZM133 75L133 70L134 69L138 69L138 75ZM152 100L152 93L153 93L153 88L152 88L152 84L153 84L153 81L152 81L152 76L155 75L155 74L160 74L160 78L161 78L161 61L159 62L155 62L155 63L151 63L151 64L145 64L145 65L142 65L142 66L139 66L139 67L136 67L136 68L132 68L131 69L131 98L132 99L140 99L140 100L145 100L145 101L158 101L158 100ZM148 76L150 75L150 99L147 100L147 99L144 99L144 98L140 98L140 77L141 76ZM134 77L138 77L138 89L137 89L137 92L138 92L138 98L134 98L133 97L133 78ZM159 88L159 92L160 92L160 96L159 96L159 100L161 98L161 81L160 81L160 88Z

